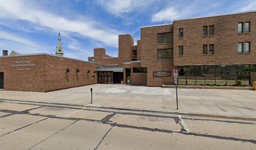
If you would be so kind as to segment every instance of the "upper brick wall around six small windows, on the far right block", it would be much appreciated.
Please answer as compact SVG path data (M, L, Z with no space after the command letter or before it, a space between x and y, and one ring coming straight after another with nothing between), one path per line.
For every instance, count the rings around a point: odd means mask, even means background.
M255 64L256 12L173 22L174 66L193 64ZM251 32L238 34L238 22L251 22ZM203 37L203 26L214 25L215 35ZM179 39L179 28L184 38ZM209 33L209 32L208 32ZM251 53L238 54L238 42L251 42ZM203 44L215 44L215 54L203 55ZM184 46L184 56L178 48Z

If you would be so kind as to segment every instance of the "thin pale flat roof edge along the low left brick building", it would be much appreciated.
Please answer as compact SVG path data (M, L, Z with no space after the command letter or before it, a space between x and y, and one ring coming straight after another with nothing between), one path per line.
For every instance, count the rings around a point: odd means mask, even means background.
M11 56L0 56L0 58L14 58L14 57L40 56L40 55L53 56L53 57L56 57L56 58L71 59L71 60L74 60L74 61L81 61L81 62L84 62L84 63L98 64L98 63L93 63L93 62L90 62L90 61L83 61L83 60L81 60L81 59L67 58L67 57L57 56L57 55L55 55L55 54L48 54L48 53L35 53L35 54L21 54L21 55L11 55ZM105 66L105 64L100 64L100 65L104 65L104 66Z

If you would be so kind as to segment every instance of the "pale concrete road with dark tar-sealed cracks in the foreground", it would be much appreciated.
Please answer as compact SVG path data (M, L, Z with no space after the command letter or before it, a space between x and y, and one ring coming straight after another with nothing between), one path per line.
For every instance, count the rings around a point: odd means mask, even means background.
M256 149L256 122L0 100L0 150Z

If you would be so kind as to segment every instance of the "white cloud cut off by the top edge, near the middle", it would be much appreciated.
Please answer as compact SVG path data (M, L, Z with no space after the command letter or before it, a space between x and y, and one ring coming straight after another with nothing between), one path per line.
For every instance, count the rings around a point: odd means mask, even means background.
M100 4L110 14L122 16L132 11L141 11L152 4L154 0L101 0Z

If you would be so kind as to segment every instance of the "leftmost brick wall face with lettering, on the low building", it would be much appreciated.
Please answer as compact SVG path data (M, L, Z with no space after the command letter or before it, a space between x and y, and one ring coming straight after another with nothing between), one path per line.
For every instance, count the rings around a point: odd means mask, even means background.
M33 64L35 64L35 66L19 66ZM45 56L0 58L0 73L1 72L4 73L4 90L45 91Z

